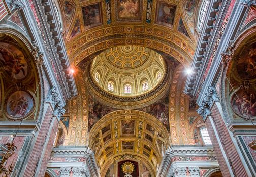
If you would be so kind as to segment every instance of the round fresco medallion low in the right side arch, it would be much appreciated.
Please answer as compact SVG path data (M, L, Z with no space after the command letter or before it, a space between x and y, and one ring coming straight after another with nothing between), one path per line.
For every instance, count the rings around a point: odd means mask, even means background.
M243 118L256 118L256 92L239 89L231 96L233 111Z

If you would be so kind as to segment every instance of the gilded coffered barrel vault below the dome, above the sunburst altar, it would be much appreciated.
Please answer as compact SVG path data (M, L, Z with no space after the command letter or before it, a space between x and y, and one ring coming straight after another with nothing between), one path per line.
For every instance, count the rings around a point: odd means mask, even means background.
M148 139L146 134L154 137L152 138L153 142ZM169 136L162 122L152 115L138 110L118 110L103 116L93 125L89 134L89 147L95 151L97 162L101 161L101 173L104 169L107 170L114 160L120 159L127 153L136 156L136 159L144 159L153 169L152 171L156 171L151 160L155 158L159 165L162 160L162 152L154 144L157 145L156 140L161 139L165 147L169 146ZM106 137L109 138L106 139ZM126 146L130 145L123 144L124 142L133 142L131 144L133 148L126 149ZM149 157L143 153L144 151L148 153Z

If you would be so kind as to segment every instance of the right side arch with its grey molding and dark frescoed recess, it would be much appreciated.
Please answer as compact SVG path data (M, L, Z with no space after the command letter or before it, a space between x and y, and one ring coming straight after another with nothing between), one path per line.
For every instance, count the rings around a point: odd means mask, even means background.
M248 94L255 94L255 84L256 84L256 77L251 78L243 78L241 77L240 73L246 73L244 70L241 72L238 72L238 66L241 65L243 62L246 63L246 60L248 59L248 55L250 54L250 51L253 46L256 46L256 41L254 40L256 37L256 26L253 26L241 33L237 38L235 39L235 42L227 48L228 53L230 53L229 56L223 56L227 57L227 59L232 59L230 62L224 63L222 68L222 75L220 80L220 97L224 98L223 102L221 103L223 114L225 119L255 119L256 115L250 114L247 116L246 114L242 114L239 111L239 100L243 97L243 92L248 91ZM255 47L254 47L255 48ZM246 57L247 55L247 57ZM230 57L230 58L229 58ZM248 61L247 61L248 62ZM246 65L244 65L246 66ZM247 65L248 66L248 65ZM244 69L244 68L243 68ZM234 80L232 83L232 86L230 86L230 83L228 80ZM249 82L250 85L248 85L248 89L245 89L246 84L245 82ZM244 87L245 86L245 87ZM246 87L247 88L247 87ZM240 99L238 97L241 97ZM236 103L237 101L237 103ZM252 99L252 105L256 102ZM241 104L241 102L240 102ZM233 114L234 116L228 116Z

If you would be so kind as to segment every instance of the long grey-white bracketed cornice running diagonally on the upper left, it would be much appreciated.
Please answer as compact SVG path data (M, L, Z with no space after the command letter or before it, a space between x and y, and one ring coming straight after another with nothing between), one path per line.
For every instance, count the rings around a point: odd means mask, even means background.
M77 94L77 90L73 75L70 73L69 59L61 31L52 10L52 2L49 0L34 0L34 2L44 35L46 36L45 40L47 40L50 55L52 55L52 64L59 77L61 90L66 98L71 98Z

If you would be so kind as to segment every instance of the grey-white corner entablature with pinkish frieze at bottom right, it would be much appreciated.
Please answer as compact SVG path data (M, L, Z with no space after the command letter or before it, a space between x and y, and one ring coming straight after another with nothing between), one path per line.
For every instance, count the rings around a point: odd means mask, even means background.
M186 166L189 161L189 166ZM218 167L212 147L173 146L166 150L157 177L200 176L199 167Z

